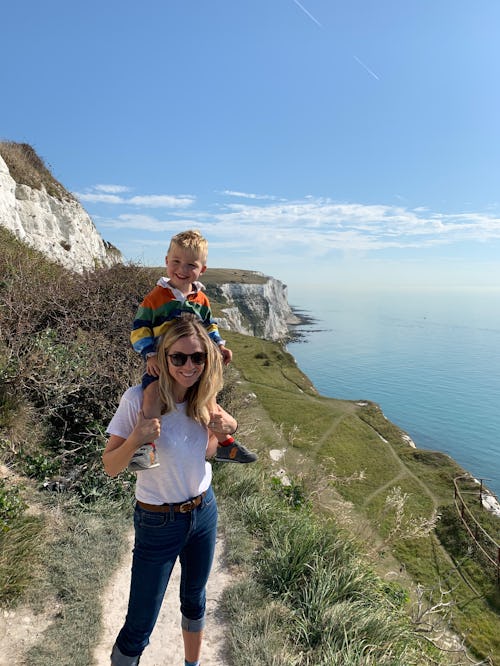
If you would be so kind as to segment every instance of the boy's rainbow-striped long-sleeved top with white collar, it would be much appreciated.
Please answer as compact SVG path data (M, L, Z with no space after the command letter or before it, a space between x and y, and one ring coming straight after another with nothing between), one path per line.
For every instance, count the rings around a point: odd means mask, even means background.
M130 342L136 352L146 358L156 351L158 338L165 332L172 320L183 312L195 314L207 329L216 345L224 344L217 323L212 317L210 301L203 293L201 282L193 283L193 291L184 296L169 284L168 278L160 278L156 287L149 292L137 309Z

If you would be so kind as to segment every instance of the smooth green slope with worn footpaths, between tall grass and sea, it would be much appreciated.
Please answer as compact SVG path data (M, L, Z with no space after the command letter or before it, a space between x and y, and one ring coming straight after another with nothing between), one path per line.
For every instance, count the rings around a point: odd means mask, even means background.
M453 505L453 478L463 470L446 455L409 447L377 405L317 395L293 358L272 343L226 337L249 390L284 434L292 478L326 516L349 528L381 575L413 599L424 592L478 656L500 663L495 572L471 551ZM268 431L259 438L280 447ZM483 521L498 541L499 521Z

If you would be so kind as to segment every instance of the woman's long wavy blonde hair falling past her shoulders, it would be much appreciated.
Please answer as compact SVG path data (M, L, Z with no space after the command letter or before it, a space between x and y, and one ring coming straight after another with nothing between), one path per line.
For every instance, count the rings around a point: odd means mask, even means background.
M215 403L217 393L222 388L222 357L210 339L203 324L190 313L184 313L174 319L165 331L158 345L158 364L160 366L159 391L163 402L163 413L175 409L174 379L168 370L167 354L172 345L181 338L196 336L207 353L204 370L193 386L186 392L187 415L199 423L207 425L210 421L208 406Z

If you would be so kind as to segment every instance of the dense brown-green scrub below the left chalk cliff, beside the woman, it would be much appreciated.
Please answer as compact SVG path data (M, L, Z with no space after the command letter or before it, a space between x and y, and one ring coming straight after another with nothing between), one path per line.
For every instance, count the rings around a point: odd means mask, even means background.
M128 494L129 480L111 487L102 471L103 430L142 373L129 331L155 271L118 265L80 275L1 228L0 241L0 434L10 436L11 416L24 401L37 427L18 433L15 448L29 476L58 474L57 488L85 501Z

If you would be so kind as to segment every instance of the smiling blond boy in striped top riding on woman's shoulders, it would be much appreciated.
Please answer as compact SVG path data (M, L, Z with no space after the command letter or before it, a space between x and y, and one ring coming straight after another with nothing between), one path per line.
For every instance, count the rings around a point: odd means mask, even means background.
M199 231L183 231L172 238L165 257L167 278L160 278L156 287L139 305L130 334L132 346L146 360L146 372L142 378L142 411L147 419L159 418L161 401L158 392L160 373L156 358L159 337L170 322L191 312L205 326L212 341L219 347L225 365L231 362L232 352L225 345L216 322L212 318L210 301L203 293L204 286L198 281L206 269L208 242ZM219 462L249 463L257 460L255 453L248 451L231 435L220 435L215 460ZM137 449L129 469L140 471L157 467L154 443Z

